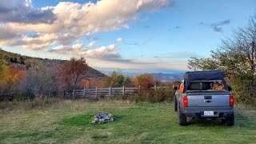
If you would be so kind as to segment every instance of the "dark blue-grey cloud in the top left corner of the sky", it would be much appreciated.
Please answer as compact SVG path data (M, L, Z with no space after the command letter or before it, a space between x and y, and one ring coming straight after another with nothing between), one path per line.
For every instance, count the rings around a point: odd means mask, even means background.
M0 1L1 22L18 23L53 23L55 14L50 9L35 9L31 0L2 0Z

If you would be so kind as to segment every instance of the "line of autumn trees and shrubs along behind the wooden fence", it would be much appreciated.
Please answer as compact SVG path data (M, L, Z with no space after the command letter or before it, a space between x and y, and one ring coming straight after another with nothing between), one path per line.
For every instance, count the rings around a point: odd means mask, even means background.
M0 100L6 98L6 94L18 99L57 97L63 91L86 88L82 86L85 80L91 83L90 87L141 86L142 90L148 90L154 85L166 85L150 74L131 78L114 71L107 77L90 78L88 70L85 58L71 58L64 63L28 58L24 64L0 58Z

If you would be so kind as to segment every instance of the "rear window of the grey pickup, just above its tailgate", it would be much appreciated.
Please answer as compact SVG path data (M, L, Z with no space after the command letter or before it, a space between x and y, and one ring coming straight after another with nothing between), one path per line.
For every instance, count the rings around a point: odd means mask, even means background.
M190 82L186 90L189 91L220 91L226 90L222 80L206 82Z

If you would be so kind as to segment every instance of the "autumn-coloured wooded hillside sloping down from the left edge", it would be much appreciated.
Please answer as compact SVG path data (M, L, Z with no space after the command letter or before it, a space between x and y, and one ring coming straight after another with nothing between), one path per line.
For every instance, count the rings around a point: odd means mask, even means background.
M32 58L0 50L0 100L57 96L79 88L82 80L106 77L87 65L85 58L69 61Z

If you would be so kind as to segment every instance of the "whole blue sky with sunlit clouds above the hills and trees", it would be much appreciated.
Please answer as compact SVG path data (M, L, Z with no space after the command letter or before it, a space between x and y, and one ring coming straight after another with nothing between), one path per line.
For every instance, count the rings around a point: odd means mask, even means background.
M255 0L3 0L0 47L82 56L98 70L173 73L209 57L255 13Z

